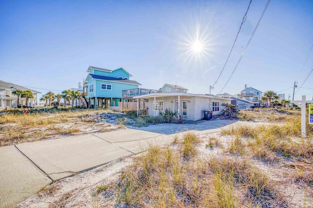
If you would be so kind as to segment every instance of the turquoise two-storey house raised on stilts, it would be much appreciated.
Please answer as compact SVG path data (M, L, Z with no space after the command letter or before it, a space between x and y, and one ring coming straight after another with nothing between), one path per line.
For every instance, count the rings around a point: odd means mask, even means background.
M83 85L83 95L89 108L118 106L122 91L138 88L140 83L130 80L132 75L123 68L114 70L89 66Z

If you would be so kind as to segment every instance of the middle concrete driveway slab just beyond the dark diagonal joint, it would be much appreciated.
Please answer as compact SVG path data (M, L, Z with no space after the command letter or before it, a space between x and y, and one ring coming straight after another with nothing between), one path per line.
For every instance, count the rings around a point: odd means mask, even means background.
M91 134L23 143L17 148L53 180L132 154Z

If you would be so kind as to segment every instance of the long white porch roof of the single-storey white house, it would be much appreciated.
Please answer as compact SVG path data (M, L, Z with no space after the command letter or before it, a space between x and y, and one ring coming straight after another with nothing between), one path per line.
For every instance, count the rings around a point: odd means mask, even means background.
M134 98L153 98L153 97L170 97L170 96L207 97L207 98L215 98L215 99L228 100L228 101L231 100L229 98L218 97L215 95L203 95L203 94L191 94L191 93L151 93L147 95L134 96Z

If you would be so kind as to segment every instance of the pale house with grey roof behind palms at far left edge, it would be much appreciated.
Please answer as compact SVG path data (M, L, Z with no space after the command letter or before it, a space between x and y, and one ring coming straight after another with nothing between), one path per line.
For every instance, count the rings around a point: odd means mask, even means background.
M40 92L0 80L0 107L17 107L18 97L17 95L12 94L12 92L17 89L22 91L30 90L34 95L34 98L28 99L28 106L34 107L37 105L37 94ZM25 98L20 97L20 105L26 105Z

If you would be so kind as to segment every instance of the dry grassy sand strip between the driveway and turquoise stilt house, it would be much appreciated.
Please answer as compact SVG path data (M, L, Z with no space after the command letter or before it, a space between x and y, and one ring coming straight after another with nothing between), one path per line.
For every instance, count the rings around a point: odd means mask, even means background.
M107 123L106 116L110 114L116 116L116 113L106 110L2 113L0 115L0 146L124 128L123 124Z

